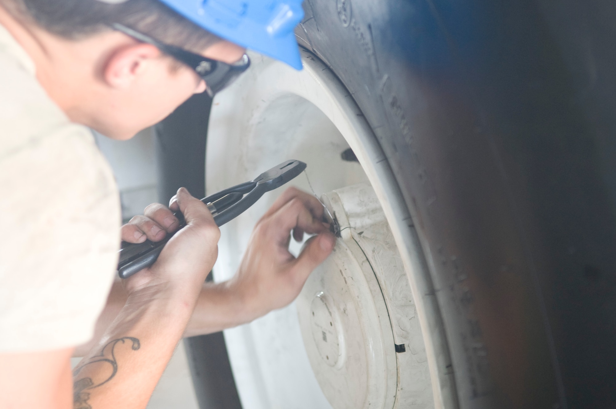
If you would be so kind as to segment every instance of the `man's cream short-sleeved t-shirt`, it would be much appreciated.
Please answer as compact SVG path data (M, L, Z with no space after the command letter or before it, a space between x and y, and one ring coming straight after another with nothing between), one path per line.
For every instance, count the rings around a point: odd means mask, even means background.
M0 353L92 337L120 224L115 180L92 133L47 96L0 25Z

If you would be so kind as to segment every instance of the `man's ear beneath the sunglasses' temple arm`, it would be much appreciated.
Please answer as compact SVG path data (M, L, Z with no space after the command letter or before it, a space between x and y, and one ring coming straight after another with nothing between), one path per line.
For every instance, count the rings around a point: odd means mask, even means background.
M103 78L110 87L128 88L145 70L147 63L160 55L160 50L152 44L120 47L107 60L103 68Z

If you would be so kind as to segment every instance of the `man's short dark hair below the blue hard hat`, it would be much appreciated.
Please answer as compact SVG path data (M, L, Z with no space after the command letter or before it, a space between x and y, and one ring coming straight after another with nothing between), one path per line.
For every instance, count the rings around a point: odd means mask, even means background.
M0 0L39 27L67 39L81 39L120 23L159 41L202 52L221 39L158 0L107 4L96 0Z

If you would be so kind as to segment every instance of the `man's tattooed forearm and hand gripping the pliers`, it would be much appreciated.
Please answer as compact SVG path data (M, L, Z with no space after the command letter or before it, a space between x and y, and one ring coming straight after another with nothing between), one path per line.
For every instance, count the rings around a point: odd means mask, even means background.
M187 227L152 267L124 282L128 297L97 345L73 370L74 408L145 408L216 260L219 230L186 190L177 204Z

